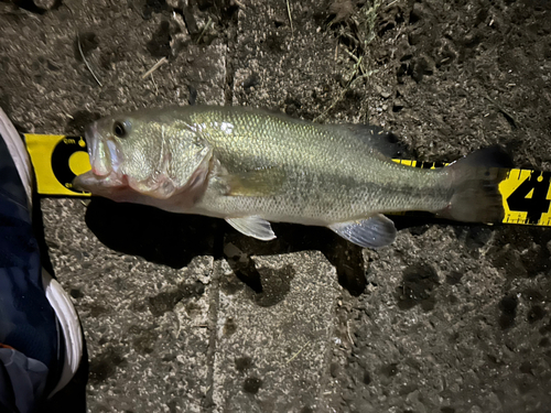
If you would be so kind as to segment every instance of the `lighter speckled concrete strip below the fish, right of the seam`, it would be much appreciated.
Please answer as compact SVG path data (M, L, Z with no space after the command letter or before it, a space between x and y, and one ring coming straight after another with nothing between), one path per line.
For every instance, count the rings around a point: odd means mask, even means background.
M225 289L235 274L228 264L222 268L214 411L316 410L325 405L336 272L316 251L251 260L260 273L261 300L246 289ZM283 300L274 300L281 291Z

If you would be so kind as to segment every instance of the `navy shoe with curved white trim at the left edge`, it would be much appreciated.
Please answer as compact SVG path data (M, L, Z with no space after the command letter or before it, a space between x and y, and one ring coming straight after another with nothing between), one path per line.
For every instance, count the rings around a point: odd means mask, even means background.
M32 227L33 171L0 108L0 411L30 412L63 389L83 357L71 297L42 268Z

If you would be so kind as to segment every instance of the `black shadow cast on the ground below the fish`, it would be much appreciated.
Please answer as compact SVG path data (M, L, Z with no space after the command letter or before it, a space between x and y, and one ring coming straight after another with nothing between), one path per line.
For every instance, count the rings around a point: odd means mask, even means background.
M391 218L398 230L412 231L437 221L430 215ZM278 238L266 242L238 233L222 219L171 214L100 197L91 199L86 224L108 248L175 269L186 267L197 256L225 256L237 278L258 294L262 293L261 278L249 257L305 250L321 251L352 295L360 295L367 285L361 248L322 227L272 224Z

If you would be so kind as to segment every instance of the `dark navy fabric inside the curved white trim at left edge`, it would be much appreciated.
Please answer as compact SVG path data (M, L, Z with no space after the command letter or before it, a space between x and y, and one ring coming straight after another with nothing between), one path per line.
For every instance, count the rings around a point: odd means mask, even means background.
M0 139L0 344L15 349L15 352L1 349L0 398L12 394L15 405L18 401L32 405L52 390L63 350L58 345L60 334L57 318L42 286L40 251L26 194ZM7 350L11 352L8 355ZM31 387L36 398L33 400L28 388L19 384L43 377L43 369L47 381L43 387ZM3 402L0 399L0 406Z

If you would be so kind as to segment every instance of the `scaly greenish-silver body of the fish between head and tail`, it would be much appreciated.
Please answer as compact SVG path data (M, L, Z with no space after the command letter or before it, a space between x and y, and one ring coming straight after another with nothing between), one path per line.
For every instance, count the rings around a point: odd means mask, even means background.
M220 131L220 119L234 126L230 133ZM202 111L191 121L204 126L205 139L229 173L282 167L287 174L284 194L278 196L227 197L207 191L202 204L219 214L326 225L379 211L437 210L450 199L450 191L433 191L444 189L441 171L413 170L374 156L371 148L333 126L227 110Z

